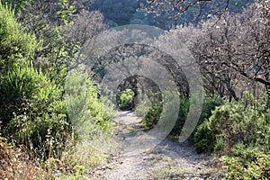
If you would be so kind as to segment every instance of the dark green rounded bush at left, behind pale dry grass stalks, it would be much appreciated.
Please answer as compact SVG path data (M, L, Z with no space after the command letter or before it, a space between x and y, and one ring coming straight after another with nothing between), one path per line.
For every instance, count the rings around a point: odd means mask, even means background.
M26 66L14 67L0 78L4 135L31 149L59 154L70 127L58 86L42 72ZM53 148L49 148L49 139L53 139Z

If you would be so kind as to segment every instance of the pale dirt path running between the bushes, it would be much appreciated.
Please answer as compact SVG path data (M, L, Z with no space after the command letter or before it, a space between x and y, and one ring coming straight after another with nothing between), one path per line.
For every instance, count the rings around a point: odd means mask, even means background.
M116 119L117 136L126 139L143 133L140 119L133 112L121 112ZM214 157L197 154L187 143L164 139L147 152L130 154L124 146L108 162L89 174L90 179L220 179L211 167Z

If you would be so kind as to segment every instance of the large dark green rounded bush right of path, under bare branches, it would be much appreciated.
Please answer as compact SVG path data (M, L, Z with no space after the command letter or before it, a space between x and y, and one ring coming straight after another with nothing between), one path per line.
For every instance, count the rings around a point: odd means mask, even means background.
M260 107L261 110L259 110ZM226 103L217 107L208 121L204 121L194 136L198 152L229 153L238 144L244 145L266 141L269 126L267 112L247 93L238 103Z

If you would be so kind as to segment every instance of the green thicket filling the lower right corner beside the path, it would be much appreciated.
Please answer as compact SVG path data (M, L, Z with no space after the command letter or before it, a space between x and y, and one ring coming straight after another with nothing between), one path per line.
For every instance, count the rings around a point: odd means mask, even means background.
M250 93L217 107L194 135L198 152L215 152L227 179L267 179L270 175L270 112L266 95Z

